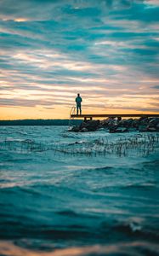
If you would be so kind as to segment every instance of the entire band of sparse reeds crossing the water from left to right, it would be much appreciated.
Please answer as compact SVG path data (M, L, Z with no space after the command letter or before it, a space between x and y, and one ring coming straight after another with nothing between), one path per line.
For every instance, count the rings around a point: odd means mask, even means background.
M154 152L159 144L159 135L150 133L139 133L133 136L113 138L113 141L107 137L99 137L91 142L82 143L63 143L60 145L54 143L37 143L34 140L8 140L0 143L0 148L14 152L23 153L43 153L48 150L54 151L54 154L69 154L71 156L86 155L109 155L126 156L128 154L148 155Z

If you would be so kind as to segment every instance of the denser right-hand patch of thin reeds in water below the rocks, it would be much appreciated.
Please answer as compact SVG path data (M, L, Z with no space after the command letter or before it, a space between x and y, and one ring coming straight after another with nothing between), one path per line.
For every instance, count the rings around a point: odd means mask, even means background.
M93 143L71 144L71 147L63 146L54 148L63 154L105 155L116 154L126 156L128 154L147 155L153 152L159 143L158 134L138 134L133 137L121 137L111 142L107 138L99 138ZM78 147L77 147L78 146Z

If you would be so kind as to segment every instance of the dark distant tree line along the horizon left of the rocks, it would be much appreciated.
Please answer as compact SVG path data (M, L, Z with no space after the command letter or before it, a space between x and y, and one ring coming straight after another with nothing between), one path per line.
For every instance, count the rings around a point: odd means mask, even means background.
M80 125L82 120L71 120L71 125ZM69 119L20 119L0 120L0 125L69 125Z

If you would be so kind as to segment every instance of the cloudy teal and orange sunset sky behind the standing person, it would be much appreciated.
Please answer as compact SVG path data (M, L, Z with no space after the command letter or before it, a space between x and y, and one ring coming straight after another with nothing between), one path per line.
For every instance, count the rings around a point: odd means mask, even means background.
M159 113L159 0L0 0L0 119Z

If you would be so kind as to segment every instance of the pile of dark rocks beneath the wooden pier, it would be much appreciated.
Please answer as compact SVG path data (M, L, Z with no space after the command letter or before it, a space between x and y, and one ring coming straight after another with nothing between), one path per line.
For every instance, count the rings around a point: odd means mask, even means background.
M109 132L159 131L159 118L141 117L139 119L108 118L105 120L87 120L73 126L69 131L87 132L107 130Z

